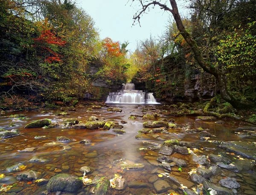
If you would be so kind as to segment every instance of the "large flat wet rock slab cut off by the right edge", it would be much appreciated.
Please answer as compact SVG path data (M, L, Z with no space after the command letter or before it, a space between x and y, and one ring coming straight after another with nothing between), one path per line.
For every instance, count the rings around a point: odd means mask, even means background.
M227 141L222 142L218 147L226 149L228 152L256 160L255 146L253 143L247 141Z

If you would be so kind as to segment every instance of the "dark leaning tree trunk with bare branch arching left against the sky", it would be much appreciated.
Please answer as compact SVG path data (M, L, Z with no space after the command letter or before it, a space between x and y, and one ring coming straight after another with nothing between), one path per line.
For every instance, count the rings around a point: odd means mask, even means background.
M203 55L201 53L201 50L198 48L197 43L192 38L192 36L189 34L189 32L186 30L186 28L184 27L184 25L182 23L182 20L181 20L181 17L180 17L180 14L179 14L179 11L178 11L178 8L177 8L176 1L175 0L169 0L171 7L167 5L167 2L166 3L160 3L160 1L156 1L156 0L151 0L151 1L139 0L139 1L140 1L141 9L134 15L134 17L133 17L134 22L138 21L140 23L140 17L151 6L159 6L160 9L163 9L164 11L171 12L174 19L175 19L175 22L177 24L177 28L180 31L180 34L183 36L183 38L189 44L189 46L190 46L190 48L191 48L191 50L194 54L195 60L198 62L198 65L200 65L200 67L204 71L206 71L207 73L210 73L213 76L215 76L215 79L216 79L217 84L218 84L218 88L219 88L220 93L221 93L221 98L226 100L227 102L229 102L235 108L243 108L245 105L242 104L241 102L239 102L237 99L235 99L229 93L228 88L227 88L227 81L226 81L225 75L220 70L215 68L214 65L212 65L209 55L206 54L207 59L205 59L203 57ZM218 3L218 2L216 2L216 3ZM230 6L226 6L227 9L223 10L222 14L225 14L226 11L233 8L232 3L230 4ZM212 19L214 19L213 21L218 21L218 18L212 18ZM212 40L212 37L209 37L209 42L211 42L211 40Z

